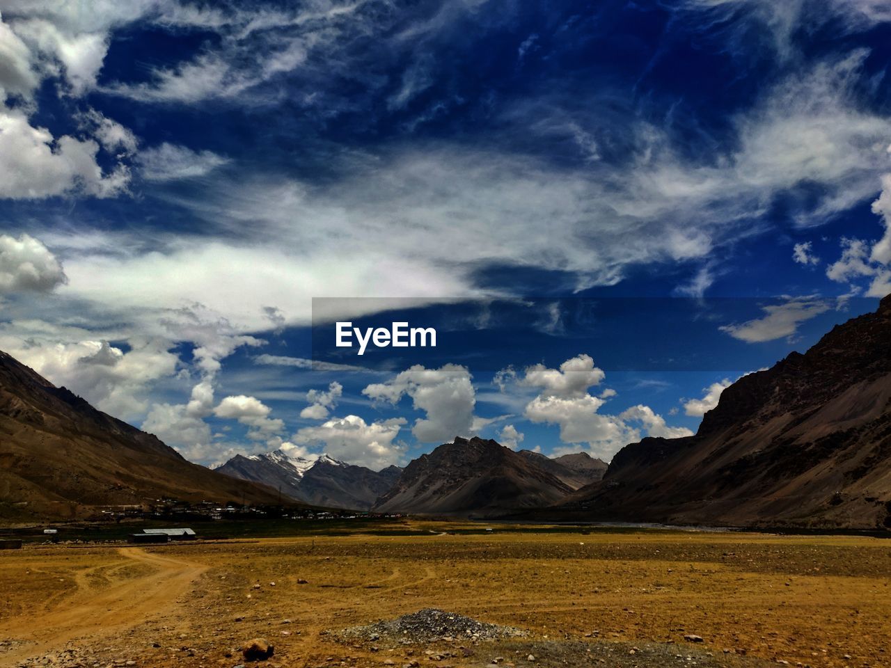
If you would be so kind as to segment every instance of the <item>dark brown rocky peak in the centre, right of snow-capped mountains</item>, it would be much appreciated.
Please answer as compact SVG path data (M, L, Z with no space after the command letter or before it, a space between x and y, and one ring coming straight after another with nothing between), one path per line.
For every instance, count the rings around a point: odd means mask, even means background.
M533 458L492 440L456 437L413 460L372 509L482 516L549 505L572 491Z

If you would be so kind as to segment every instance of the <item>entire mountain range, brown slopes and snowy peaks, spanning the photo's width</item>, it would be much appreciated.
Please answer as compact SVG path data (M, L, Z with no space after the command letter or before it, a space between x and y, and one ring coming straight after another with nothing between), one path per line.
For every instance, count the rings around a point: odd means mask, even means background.
M404 469L322 455L236 456L216 471L0 353L0 515L82 517L186 501L463 517L891 528L891 297L805 354L723 390L694 436L609 463L456 437Z

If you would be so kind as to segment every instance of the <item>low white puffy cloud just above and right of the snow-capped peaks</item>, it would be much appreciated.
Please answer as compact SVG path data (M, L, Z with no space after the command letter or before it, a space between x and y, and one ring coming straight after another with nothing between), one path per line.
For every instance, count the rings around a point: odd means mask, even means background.
M320 445L337 460L380 470L398 464L405 447L395 444L404 418L380 420L368 424L357 415L331 418L316 427L305 427L291 437L295 444Z

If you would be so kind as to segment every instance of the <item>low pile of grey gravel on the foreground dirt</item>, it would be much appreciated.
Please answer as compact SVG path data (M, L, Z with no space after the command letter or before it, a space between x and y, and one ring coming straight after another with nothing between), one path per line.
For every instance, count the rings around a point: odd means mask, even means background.
M411 615L392 620L381 620L368 626L354 626L338 633L343 639L396 640L402 643L422 643L436 640L494 640L521 638L526 631L511 626L479 622L457 613L427 607Z

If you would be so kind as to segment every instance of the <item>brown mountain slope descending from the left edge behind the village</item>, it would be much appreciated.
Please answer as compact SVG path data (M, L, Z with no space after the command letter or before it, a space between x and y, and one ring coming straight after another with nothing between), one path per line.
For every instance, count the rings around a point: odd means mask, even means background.
M270 503L259 485L192 464L0 352L0 516L84 517L96 506Z

